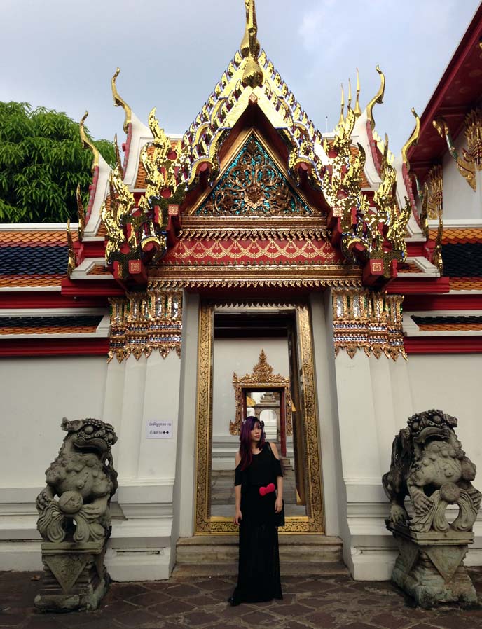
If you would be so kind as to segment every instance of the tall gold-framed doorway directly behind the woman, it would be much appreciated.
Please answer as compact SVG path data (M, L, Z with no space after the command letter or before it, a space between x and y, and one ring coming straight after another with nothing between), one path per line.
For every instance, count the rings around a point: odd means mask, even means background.
M308 306L205 303L200 314L195 532L237 531L235 454L247 415L265 422L282 457L284 530L323 532Z

